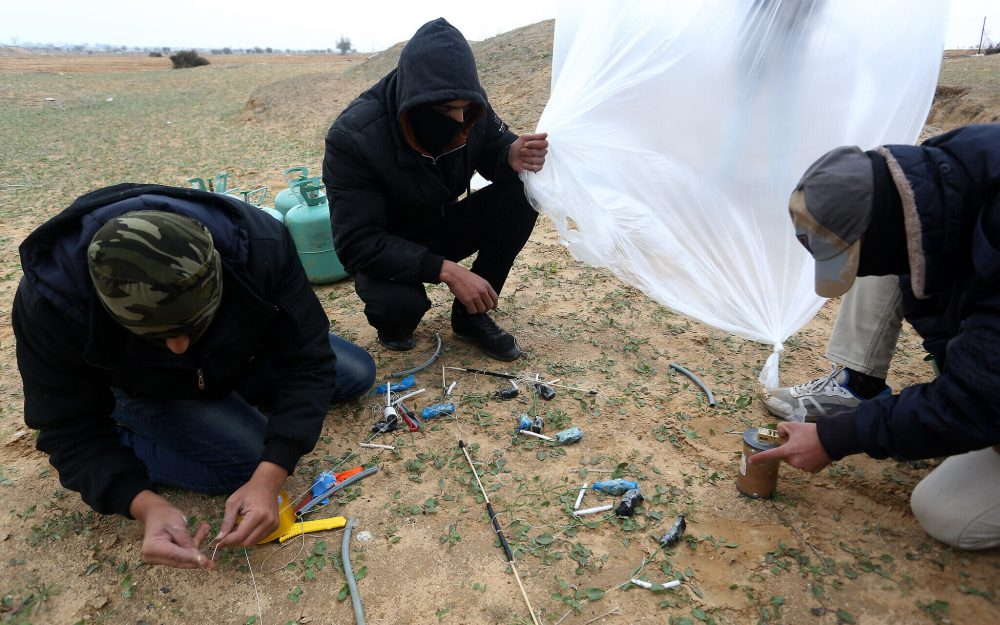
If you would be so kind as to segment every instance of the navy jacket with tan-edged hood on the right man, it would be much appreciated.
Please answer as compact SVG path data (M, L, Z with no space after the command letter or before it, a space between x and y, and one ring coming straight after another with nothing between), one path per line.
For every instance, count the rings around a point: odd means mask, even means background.
M940 375L862 402L852 416L821 419L820 441L834 459L858 452L929 458L996 445L1000 124L967 126L921 146L890 145L879 153L902 205L910 272L900 278L903 312Z

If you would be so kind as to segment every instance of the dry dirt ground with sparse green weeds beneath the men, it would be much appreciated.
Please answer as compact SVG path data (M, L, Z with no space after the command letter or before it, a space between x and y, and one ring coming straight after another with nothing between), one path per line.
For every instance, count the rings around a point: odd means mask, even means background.
M543 23L476 45L488 92L515 130L533 129L544 105L551 32ZM183 184L222 169L238 184L276 189L281 169L318 167L329 122L396 54L398 47L367 60L213 59L183 71L138 57L134 67L122 57L103 67L93 57L0 59L0 623L352 622L350 602L338 596L339 532L250 550L261 613L240 550L223 552L216 572L143 565L139 525L94 515L34 451L8 317L18 243L74 197L124 180ZM952 106L935 108L929 132L964 123L968 107L995 116L998 76L1000 55L949 59L942 84ZM506 368L452 337L442 287L430 288L435 307L418 351L402 356L379 348L350 282L316 291L334 329L374 355L380 377L421 360L435 332L444 338L442 364ZM786 343L785 380L825 372L836 308L831 302ZM357 443L372 423L372 402L338 406L290 480L298 493L321 470L380 467L324 511L356 517L358 530L371 535L352 545L369 623L529 622L459 438L473 445L527 592L548 625L563 617L582 625L616 609L597 622L1000 622L997 553L944 547L909 510L911 489L934 462L852 457L818 475L785 467L773 501L736 492L734 432L771 421L755 398L764 346L673 314L577 263L545 219L515 267L498 320L528 351L512 369L600 394L500 402L491 398L496 380L449 375L458 381L454 417L418 434L384 436L379 442L396 451L371 453ZM930 379L922 355L917 337L904 333L893 387ZM671 372L675 361L704 377L717 406ZM418 381L427 401L436 399L440 369ZM550 431L576 425L586 435L565 448L513 437L516 415L528 411L543 414ZM641 513L575 520L568 510L579 485L613 474L641 482ZM222 498L168 496L192 523L219 523ZM686 539L659 550L655 538L679 514L687 517ZM634 574L684 584L658 593L621 586Z

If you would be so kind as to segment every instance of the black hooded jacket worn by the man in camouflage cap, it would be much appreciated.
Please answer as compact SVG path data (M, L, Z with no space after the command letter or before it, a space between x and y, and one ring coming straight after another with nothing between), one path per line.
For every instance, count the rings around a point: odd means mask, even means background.
M135 210L203 223L222 258L219 310L180 356L116 323L87 272L94 233ZM119 442L112 387L149 399L219 399L237 391L266 403L261 460L289 473L315 446L334 386L329 321L288 232L261 210L215 193L121 184L77 199L32 232L20 252L24 277L12 318L24 419L39 431L37 447L63 486L98 512L128 516L132 499L151 488L145 465Z

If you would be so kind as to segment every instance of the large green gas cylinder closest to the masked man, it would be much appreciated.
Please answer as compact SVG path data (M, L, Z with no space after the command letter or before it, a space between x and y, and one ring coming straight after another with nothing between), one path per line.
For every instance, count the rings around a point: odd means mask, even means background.
M346 278L344 265L333 249L330 205L319 178L298 180L293 185L301 194L302 202L285 215L285 227L292 235L306 276L313 284Z

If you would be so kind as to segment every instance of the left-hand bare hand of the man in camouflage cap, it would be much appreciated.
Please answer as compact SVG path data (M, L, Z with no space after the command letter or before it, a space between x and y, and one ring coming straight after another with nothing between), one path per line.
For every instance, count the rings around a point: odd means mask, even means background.
M143 562L178 569L215 568L215 563L199 550L208 534L208 523L202 523L192 539L184 513L150 490L135 496L129 512L146 527L142 537Z

